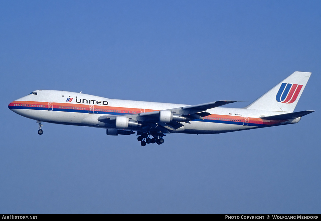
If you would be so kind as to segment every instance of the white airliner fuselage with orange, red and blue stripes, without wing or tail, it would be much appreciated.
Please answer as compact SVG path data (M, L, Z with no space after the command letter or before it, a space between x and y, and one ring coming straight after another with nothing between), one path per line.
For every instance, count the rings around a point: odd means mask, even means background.
M11 102L9 108L24 117L42 122L110 128L100 122L104 115L138 114L188 106L158 102L116 100L82 93L37 90ZM202 119L181 122L183 127L174 133L214 134L260 127L297 123L294 120L263 120L262 116L278 114L276 111L258 111L246 108L216 107L208 110L211 115ZM131 129L139 130L139 129Z

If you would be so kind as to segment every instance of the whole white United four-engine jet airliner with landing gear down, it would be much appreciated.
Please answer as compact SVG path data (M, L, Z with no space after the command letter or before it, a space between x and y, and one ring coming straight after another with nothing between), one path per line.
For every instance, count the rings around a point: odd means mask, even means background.
M137 132L142 146L164 143L170 133L217 134L298 123L313 111L293 112L311 73L294 72L244 108L223 108L236 101L197 105L116 100L88 94L37 90L11 102L11 111L42 122L106 128L107 135Z

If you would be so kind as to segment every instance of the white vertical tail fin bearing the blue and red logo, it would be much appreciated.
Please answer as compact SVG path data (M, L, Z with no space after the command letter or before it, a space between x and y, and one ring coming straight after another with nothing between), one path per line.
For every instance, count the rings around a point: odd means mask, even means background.
M293 112L310 75L310 72L294 72L245 108Z

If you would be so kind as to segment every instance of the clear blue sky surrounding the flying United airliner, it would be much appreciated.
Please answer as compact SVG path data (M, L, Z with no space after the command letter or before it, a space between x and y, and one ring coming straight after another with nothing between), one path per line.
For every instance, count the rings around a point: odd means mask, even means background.
M0 0L1 213L320 213L320 1ZM33 90L244 107L312 72L298 124L161 146L23 118ZM317 119L317 120L316 120Z

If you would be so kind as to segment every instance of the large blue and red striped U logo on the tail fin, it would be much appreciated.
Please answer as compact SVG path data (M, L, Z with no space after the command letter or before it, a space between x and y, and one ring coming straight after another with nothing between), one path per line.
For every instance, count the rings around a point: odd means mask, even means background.
M297 99L302 87L302 84L282 83L275 99L280 103L293 103Z

